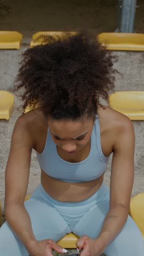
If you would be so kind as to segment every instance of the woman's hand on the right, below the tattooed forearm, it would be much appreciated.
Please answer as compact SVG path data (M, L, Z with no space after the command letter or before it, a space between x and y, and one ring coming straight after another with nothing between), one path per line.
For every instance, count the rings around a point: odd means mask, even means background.
M92 239L87 235L80 237L76 242L76 246L79 251L83 249L81 256L100 256L103 253L103 248L101 248L97 239Z

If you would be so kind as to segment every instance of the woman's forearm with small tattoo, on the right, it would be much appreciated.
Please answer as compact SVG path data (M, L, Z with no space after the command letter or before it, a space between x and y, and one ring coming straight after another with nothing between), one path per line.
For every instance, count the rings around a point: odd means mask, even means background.
M97 241L99 241L103 250L118 235L119 231L121 231L128 218L128 213L129 210L121 205L113 206L107 212L103 226L97 237Z

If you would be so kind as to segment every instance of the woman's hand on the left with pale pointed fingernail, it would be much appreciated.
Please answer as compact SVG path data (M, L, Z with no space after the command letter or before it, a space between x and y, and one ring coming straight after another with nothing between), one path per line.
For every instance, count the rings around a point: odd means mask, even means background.
M52 239L46 239L41 241L31 241L27 243L27 250L31 256L53 256L52 249L59 253L65 253L65 250L62 246L57 245ZM65 250L65 251L64 251Z

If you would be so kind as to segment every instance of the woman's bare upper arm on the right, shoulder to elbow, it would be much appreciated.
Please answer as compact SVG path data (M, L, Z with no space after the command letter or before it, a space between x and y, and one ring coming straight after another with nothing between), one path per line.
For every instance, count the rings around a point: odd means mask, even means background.
M125 117L122 126L113 148L110 206L118 203L129 208L134 182L135 136L133 124L128 118Z

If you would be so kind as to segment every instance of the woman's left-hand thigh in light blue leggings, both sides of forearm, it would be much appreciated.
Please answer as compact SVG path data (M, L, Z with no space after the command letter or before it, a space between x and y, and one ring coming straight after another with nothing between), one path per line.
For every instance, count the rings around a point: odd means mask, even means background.
M51 238L53 241L58 241L70 232L69 226L61 215L45 202L29 199L25 202L25 207L31 218L32 229L37 240ZM29 255L7 222L0 229L0 241L0 255L1 252L3 256Z

